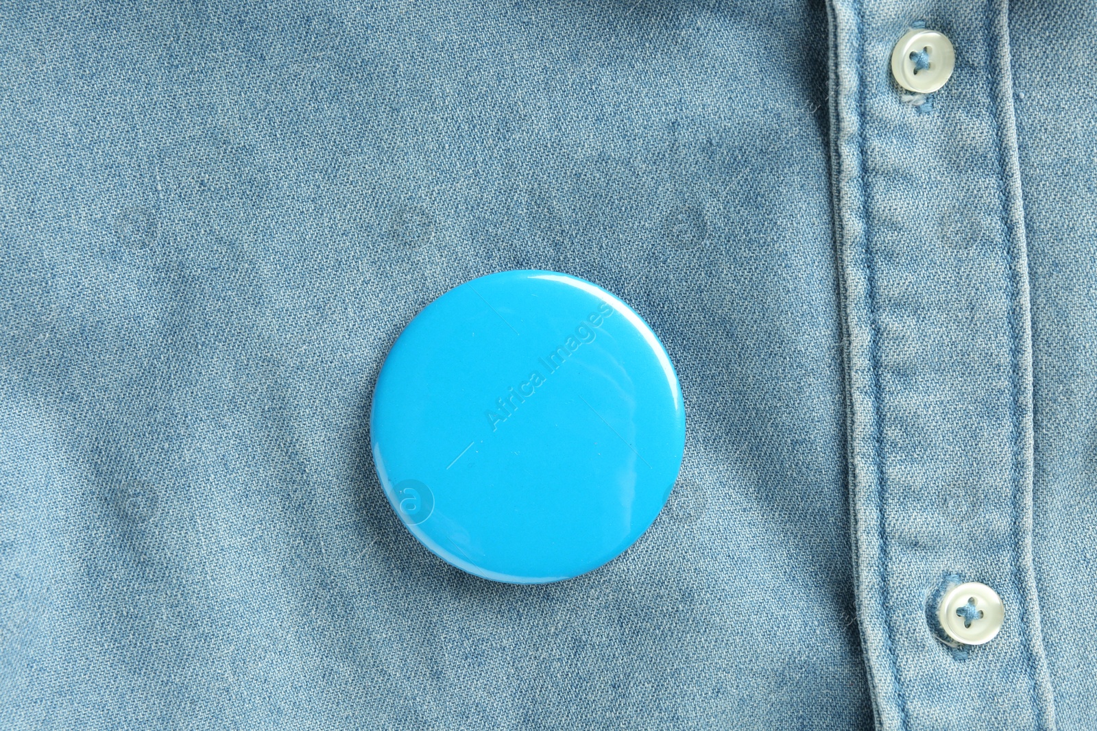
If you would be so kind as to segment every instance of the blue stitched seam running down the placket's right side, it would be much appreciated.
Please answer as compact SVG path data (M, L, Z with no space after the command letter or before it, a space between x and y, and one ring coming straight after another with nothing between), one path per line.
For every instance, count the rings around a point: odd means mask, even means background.
M1021 593L1024 597L1025 592L1022 590L1021 575L1020 575L1020 560L1021 551L1020 545L1024 540L1021 535L1021 519L1020 519L1020 491L1021 491L1021 476L1019 470L1019 465L1024 458L1021 455L1020 447L1020 411L1017 408L1018 395L1020 391L1019 380L1020 380L1020 362L1017 357L1017 341L1020 338L1020 333L1017 332L1017 317L1015 313L1015 301L1019 287L1017 285L1017 264L1018 258L1016 252L1016 231L1014 229L1013 221L1010 220L1008 206L1006 202L1005 186L1006 186L1006 158L1005 158L1005 141L1002 139L1002 129L998 124L998 104L997 104L997 93L998 90L994 83L994 75L992 73L992 66L994 65L994 54L998 46L1000 45L1000 38L997 33L995 33L994 24L991 22L991 13L995 10L993 0L987 0L986 13L985 13L985 25L986 25L986 66L984 72L986 75L987 84L987 106L991 113L991 123L994 125L994 140L995 140L995 152L997 155L998 163L998 181L995 185L998 193L998 210L999 210L999 224L1002 226L1003 232L1006 236L1006 245L1003 252L1006 264L1005 279L1006 279L1006 324L1009 328L1009 481L1010 481L1010 501L1011 501L1011 513L1014 522L1014 541L1013 541L1013 552L1014 560L1010 562L1010 574L1014 581L1014 585L1017 586L1017 591ZM992 43L993 42L993 43ZM1018 631L1021 636L1021 646L1025 648L1025 661L1028 665L1028 681L1029 681L1029 701L1032 704L1032 716L1036 719L1037 728L1045 728L1042 719L1042 713L1040 711L1040 704L1037 699L1036 690L1036 659L1032 656L1032 648L1029 643L1029 630L1025 620L1025 601L1021 601L1021 606L1017 609L1017 623Z

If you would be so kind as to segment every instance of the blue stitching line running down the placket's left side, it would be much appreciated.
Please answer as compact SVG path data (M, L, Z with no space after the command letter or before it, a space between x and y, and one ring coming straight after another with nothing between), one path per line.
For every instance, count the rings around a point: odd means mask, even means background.
M869 386L870 392L872 395L872 441L875 447L877 457L877 500L879 501L879 514L877 519L879 521L878 533L880 534L880 563L881 563L881 578L880 578L880 608L883 613L883 625L884 625L884 651L891 661L891 676L892 676L892 689L895 694L895 705L898 711L900 728L907 729L907 718L906 718L906 699L903 696L903 686L900 683L898 677L898 656L895 652L895 647L892 643L891 635L894 631L891 621L891 614L887 612L887 534L884 529L884 495L885 491L885 479L883 469L883 426L882 420L880 419L878 404L880 402L880 346L879 339L877 338L877 320L875 320L875 283L877 273L873 265L873 259L870 248L871 235L869 229L869 185L868 185L868 170L864 162L864 128L866 128L866 88L868 87L867 73L864 72L864 8L858 2L857 3L857 62L856 68L858 75L861 75L859 98L858 98L858 116L860 122L860 128L858 130L858 144L860 146L860 163L861 163L861 217L864 221L864 269L866 269L866 283L867 283L867 300L869 308L869 357L872 363L872 380Z

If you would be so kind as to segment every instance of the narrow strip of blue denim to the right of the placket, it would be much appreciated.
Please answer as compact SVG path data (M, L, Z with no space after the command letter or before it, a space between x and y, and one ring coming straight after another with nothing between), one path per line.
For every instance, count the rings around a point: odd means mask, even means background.
M1097 728L1097 3L1010 8L1029 242L1032 557L1060 729Z

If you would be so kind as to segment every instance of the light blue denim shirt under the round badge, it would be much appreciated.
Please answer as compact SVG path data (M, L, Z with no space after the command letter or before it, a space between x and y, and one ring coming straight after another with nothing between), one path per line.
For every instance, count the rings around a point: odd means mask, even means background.
M1097 729L1095 30L0 0L0 727ZM367 433L410 318L520 267L687 404L638 542L524 586L416 542ZM953 648L966 581L1006 615Z

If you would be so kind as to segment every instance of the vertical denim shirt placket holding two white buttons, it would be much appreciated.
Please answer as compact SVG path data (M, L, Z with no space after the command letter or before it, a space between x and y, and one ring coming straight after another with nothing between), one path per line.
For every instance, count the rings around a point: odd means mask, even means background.
M881 729L1054 728L1031 558L1031 336L1006 10L829 8L855 579ZM930 94L900 87L890 66L917 27L955 53ZM985 644L958 643L937 620L965 582L1005 607Z

